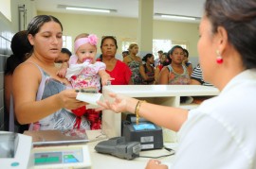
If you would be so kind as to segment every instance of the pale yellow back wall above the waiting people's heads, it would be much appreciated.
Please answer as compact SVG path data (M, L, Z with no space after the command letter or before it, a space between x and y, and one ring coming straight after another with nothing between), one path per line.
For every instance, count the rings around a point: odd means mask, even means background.
M125 39L137 40L138 20L136 18L107 17L70 13L55 13L38 11L38 14L48 14L57 17L64 25L64 35L76 37L83 32L94 33L99 37L114 35L118 39L119 58L121 42ZM196 43L198 40L198 25L170 21L154 21L153 39L187 41L190 57L197 60ZM100 50L99 50L100 51Z

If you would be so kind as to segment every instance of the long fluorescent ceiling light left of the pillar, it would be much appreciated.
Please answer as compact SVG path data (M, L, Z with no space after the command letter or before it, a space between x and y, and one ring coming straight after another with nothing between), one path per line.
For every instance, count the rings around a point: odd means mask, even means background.
M64 9L67 9L67 10L102 12L102 13L117 12L116 9L108 9L108 8L86 8L86 7L75 7L75 6L66 6L66 5L58 5L58 8L64 8Z

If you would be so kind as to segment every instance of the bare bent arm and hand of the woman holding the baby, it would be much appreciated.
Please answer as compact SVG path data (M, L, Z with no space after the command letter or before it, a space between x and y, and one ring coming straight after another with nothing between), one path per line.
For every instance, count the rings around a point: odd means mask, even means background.
M36 101L41 78L37 66L30 62L20 64L14 71L12 79L14 109L21 125L37 122L62 108L74 110L85 105L84 102L76 100L77 93L74 90L65 90Z

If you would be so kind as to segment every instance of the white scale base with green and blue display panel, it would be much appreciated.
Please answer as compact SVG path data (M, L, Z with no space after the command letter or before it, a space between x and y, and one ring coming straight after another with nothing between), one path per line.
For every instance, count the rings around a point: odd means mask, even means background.
M60 145L34 147L34 169L91 168L87 145Z

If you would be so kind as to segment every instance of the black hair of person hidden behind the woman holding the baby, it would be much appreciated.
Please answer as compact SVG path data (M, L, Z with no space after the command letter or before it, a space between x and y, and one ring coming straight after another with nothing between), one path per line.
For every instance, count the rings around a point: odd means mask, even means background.
M7 59L5 75L12 75L14 69L27 59L32 45L27 40L27 30L17 32L11 39L10 48L12 55Z

